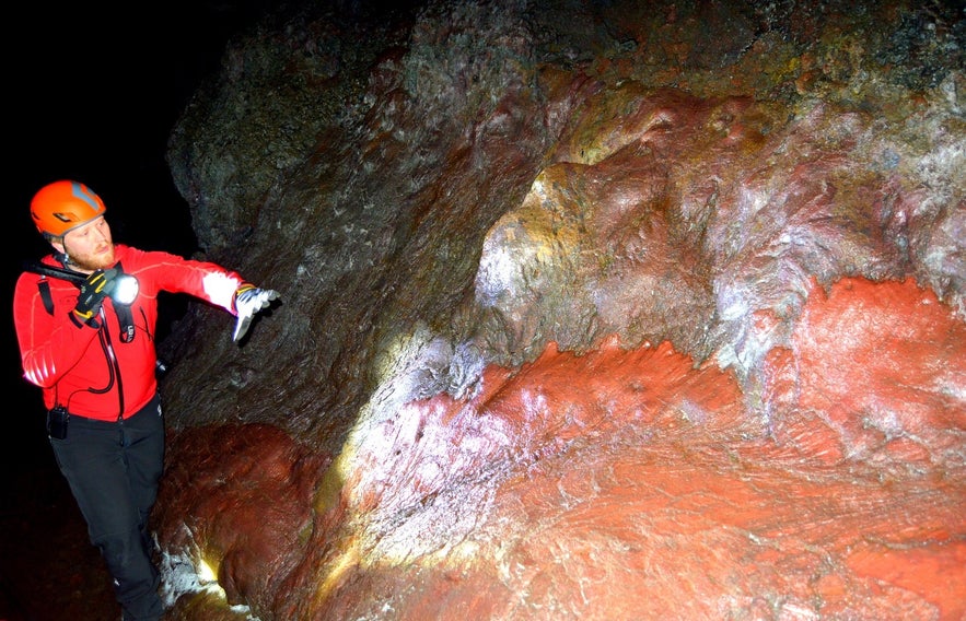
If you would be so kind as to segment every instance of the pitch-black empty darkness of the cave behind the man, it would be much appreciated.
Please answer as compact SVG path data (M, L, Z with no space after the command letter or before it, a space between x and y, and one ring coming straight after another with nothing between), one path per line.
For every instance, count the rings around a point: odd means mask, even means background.
M214 79L230 37L270 8L257 0L103 4L40 2L4 19L3 483L53 464L40 391L22 377L12 316L22 262L50 250L31 221L31 198L57 179L83 181L107 206L115 242L194 253L188 207L165 162L167 138L191 94ZM162 300L161 335L185 304Z

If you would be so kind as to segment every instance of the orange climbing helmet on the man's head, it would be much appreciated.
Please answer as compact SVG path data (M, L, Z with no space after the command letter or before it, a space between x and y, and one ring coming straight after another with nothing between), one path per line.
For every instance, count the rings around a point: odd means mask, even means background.
M79 181L54 181L40 188L31 201L31 215L45 237L62 237L81 224L104 215L101 197Z

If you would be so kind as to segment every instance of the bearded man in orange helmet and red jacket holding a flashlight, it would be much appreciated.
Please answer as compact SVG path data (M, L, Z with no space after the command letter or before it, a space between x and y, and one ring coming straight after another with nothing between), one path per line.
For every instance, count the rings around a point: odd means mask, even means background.
M55 254L19 278L14 325L24 377L42 388L50 446L123 618L160 619L148 534L164 457L158 293L187 293L232 313L235 342L278 293L211 262L115 244L105 211L78 181L34 196L31 215Z

